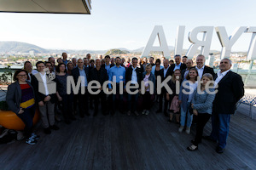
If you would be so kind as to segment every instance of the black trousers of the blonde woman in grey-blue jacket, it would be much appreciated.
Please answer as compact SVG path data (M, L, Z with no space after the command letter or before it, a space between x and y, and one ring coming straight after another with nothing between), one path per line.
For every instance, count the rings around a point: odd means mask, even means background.
M211 115L208 113L199 113L198 114L197 123L196 123L195 142L193 143L194 145L197 146L201 142L204 127L206 126L210 117L211 117Z

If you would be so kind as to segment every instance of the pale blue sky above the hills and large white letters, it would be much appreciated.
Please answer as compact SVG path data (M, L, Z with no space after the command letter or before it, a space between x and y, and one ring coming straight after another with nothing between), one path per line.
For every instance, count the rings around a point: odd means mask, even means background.
M0 13L0 41L28 42L41 48L137 49L145 47L154 26L163 26L174 46L177 26L188 33L197 26L225 26L228 35L238 26L256 26L252 0L91 0L91 14ZM243 33L232 51L247 51L251 33ZM221 50L215 31L212 50Z

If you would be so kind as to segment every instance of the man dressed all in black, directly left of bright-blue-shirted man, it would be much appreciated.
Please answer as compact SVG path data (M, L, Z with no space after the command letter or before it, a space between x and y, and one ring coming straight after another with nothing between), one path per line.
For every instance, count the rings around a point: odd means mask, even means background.
M103 115L107 115L106 111L106 94L103 92L102 86L103 83L108 81L108 73L107 70L103 67L101 67L101 60L96 59L96 68L93 68L90 70L90 81L97 81L101 84L101 87L99 90L101 91L100 94L91 94L91 97L94 99L94 105L95 110L93 116L96 116L98 114L98 107L99 107L99 101L101 99L102 104L102 113ZM94 92L96 92L98 89L93 89Z

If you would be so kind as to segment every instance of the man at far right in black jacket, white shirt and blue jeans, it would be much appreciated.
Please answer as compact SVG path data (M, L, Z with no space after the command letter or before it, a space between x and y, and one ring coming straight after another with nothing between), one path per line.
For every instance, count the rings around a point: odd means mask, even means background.
M224 152L226 140L229 133L230 116L236 111L236 103L244 95L244 84L241 76L231 68L230 59L222 59L219 64L215 86L218 93L212 105L212 133L205 139L218 141L216 151Z

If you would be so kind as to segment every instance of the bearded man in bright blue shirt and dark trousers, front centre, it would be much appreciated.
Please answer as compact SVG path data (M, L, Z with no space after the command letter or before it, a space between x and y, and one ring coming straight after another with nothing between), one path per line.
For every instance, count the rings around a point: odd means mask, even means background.
M125 88L125 67L122 67L121 59L119 57L115 58L115 64L113 67L111 67L108 71L108 80L111 82L114 82L116 85L116 94L112 94L112 111L111 115L114 115L116 106L118 104L119 111L123 113L122 107L123 105L123 93L119 92L119 88ZM120 87L120 82L123 82L123 87ZM108 84L109 91L112 91L113 87L111 83ZM119 98L117 98L119 96ZM119 99L119 101L117 101Z

